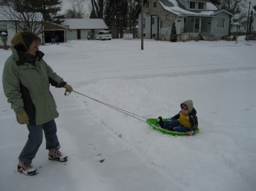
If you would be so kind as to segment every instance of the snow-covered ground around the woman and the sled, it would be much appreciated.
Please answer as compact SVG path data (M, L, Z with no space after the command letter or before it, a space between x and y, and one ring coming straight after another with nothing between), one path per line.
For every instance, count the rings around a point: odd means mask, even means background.
M45 142L38 174L17 172L28 131L0 86L0 190L253 191L256 188L256 41L74 40L40 46L44 60L73 89L144 118L171 117L192 99L200 133L153 130L87 97L51 87L61 151L51 162ZM0 73L10 51L0 50ZM2 83L2 77L1 77ZM144 120L142 118L142 120Z

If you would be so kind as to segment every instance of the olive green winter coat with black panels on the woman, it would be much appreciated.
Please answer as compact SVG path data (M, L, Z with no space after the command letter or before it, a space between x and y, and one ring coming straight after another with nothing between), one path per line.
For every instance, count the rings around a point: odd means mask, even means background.
M31 125L42 125L59 116L55 100L49 91L49 83L63 87L59 77L42 59L44 53L36 53L35 61L27 61L24 53L12 48L3 68L3 91L15 113L26 111Z

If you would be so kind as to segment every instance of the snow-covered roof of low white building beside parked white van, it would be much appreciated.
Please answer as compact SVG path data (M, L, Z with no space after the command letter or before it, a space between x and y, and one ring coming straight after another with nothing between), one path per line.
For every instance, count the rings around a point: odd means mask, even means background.
M70 29L108 29L103 19L65 19L63 26Z

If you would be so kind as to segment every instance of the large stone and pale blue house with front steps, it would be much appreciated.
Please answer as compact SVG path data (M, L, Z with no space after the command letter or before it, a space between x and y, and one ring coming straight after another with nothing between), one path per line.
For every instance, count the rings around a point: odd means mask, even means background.
M146 39L166 39L175 22L177 35L199 38L200 33L216 37L228 35L228 11L218 10L209 0L146 0L143 6L143 35ZM139 14L141 36L141 14Z

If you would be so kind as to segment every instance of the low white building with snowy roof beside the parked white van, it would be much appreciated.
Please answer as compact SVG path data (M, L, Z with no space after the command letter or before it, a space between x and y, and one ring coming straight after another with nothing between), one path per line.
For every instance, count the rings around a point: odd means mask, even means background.
M103 19L65 19L63 26L68 28L68 40L87 39L88 32L109 30Z

